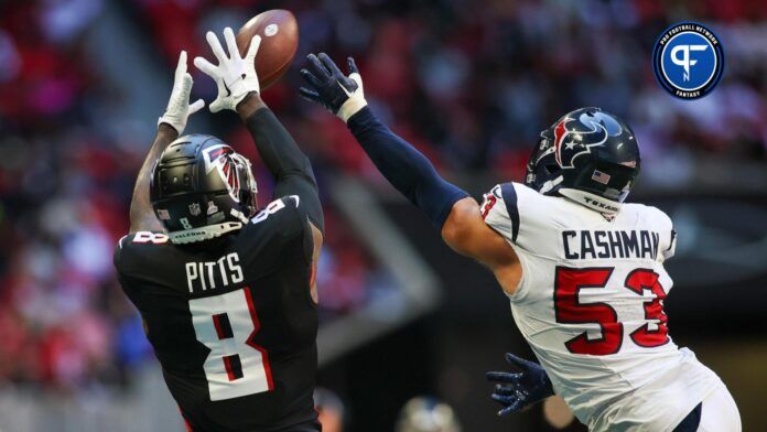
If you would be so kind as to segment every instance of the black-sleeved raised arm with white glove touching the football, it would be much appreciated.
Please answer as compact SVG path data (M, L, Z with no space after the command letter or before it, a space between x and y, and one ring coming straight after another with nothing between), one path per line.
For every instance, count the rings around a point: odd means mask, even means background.
M237 111L253 138L263 164L274 176L274 197L298 195L312 225L322 231L324 217L312 164L259 94L260 84L253 61L261 37L253 36L245 57L239 54L230 28L224 29L228 55L213 32L208 32L206 37L218 65L203 57L196 57L194 64L218 85L218 97L210 104L210 110Z

